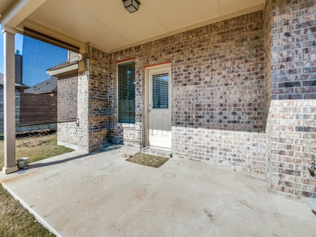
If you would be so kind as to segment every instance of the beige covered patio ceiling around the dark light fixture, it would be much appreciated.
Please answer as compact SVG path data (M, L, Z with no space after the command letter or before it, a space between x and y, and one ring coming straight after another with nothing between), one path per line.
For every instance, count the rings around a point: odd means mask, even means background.
M86 51L134 46L238 15L261 10L266 0L140 0L129 13L122 0L1 0L2 28L23 28Z

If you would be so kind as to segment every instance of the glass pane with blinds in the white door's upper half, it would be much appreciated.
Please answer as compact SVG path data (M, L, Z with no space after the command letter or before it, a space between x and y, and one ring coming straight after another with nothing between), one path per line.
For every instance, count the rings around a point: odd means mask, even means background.
M168 73L153 75L153 109L168 109Z

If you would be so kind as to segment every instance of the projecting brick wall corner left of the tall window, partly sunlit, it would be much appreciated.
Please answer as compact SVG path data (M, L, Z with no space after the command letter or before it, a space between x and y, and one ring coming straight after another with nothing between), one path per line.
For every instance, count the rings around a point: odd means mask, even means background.
M58 123L60 145L90 152L108 144L107 70L108 54L89 46L84 72L58 79L60 119L79 118L79 126L76 121Z

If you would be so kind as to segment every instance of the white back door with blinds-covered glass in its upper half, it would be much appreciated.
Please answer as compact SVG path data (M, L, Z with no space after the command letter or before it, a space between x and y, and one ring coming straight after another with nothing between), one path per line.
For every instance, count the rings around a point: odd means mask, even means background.
M171 67L148 70L149 145L171 148Z

